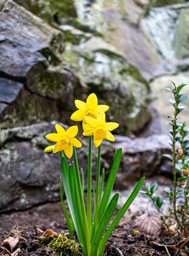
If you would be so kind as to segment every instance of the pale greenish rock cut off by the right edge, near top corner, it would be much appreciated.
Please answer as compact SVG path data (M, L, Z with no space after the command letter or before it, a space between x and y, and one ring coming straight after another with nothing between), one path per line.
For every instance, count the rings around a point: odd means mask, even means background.
M189 9L183 9L174 36L176 57L189 58Z

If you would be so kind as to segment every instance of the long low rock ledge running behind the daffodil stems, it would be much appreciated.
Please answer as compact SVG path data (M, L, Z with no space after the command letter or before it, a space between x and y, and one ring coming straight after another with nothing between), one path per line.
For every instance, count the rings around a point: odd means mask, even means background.
M49 142L44 135L54 132L56 122L1 130L0 132L0 212L28 209L33 205L59 200L60 157L45 154ZM67 128L64 124L63 127ZM81 139L81 138L80 138ZM142 176L157 173L165 161L162 153L169 151L166 136L130 139L116 136L115 143L102 146L102 166L106 176L112 164L114 151L123 149L122 162L115 187L127 188L130 182ZM87 171L87 138L78 150L78 160ZM97 155L97 149L93 151ZM93 158L93 177L96 161ZM85 175L86 177L86 175Z

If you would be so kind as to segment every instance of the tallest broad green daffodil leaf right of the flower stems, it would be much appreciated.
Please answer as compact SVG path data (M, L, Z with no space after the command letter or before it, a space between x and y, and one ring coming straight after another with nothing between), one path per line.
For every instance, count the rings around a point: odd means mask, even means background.
M99 212L98 212L99 220L101 219L103 213L105 212L107 204L109 202L109 198L111 196L111 192L112 192L113 185L115 182L115 177L117 175L117 171L119 169L119 165L121 162L121 155L122 155L122 149L119 149L115 155L115 158L114 158L114 161L113 161L110 173L109 173L109 177L107 179L106 187L104 189L104 194L102 196L102 200L100 203Z

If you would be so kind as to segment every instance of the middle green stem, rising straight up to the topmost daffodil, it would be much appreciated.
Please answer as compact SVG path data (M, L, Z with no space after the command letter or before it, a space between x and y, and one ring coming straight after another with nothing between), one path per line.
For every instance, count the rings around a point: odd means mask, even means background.
M87 222L91 237L91 175L92 175L92 136L89 136L88 180L87 180Z

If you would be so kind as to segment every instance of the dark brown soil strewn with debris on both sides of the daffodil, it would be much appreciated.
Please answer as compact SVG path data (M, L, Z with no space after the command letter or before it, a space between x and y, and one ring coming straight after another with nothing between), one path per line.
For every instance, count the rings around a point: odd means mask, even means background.
M61 232L62 230L67 233L66 224L62 214L59 214L59 203L49 203L43 206L38 206L36 209L30 209L26 212L9 213L0 215L1 227L5 230L0 230L0 256L52 256L56 255L49 247L50 240L41 240L42 234L39 233L39 228L43 231L50 228L54 232ZM48 216L48 211L54 216ZM35 213L35 214L34 214ZM53 221L56 220L56 221ZM4 224L3 224L4 222ZM37 226L34 224L37 224ZM5 224L7 223L7 224ZM12 231L9 231L11 224L21 224L21 226L14 226ZM2 225L3 224L3 225ZM30 227L26 227L30 224ZM33 225L33 226L32 226ZM11 254L8 246L3 244L4 239L11 236L20 234L20 239L17 246L13 249L15 251L20 248L17 254ZM68 235L69 237L69 235ZM51 238L50 238L51 239ZM77 241L76 237L75 240ZM178 252L171 250L167 252L165 247L157 247L150 244L150 241L156 241L160 244L176 244L176 238L160 235L159 238L154 239L143 232L136 230L134 221L130 218L122 219L119 226L114 230L109 238L104 256L187 256L184 248ZM8 252L7 252L8 250Z

